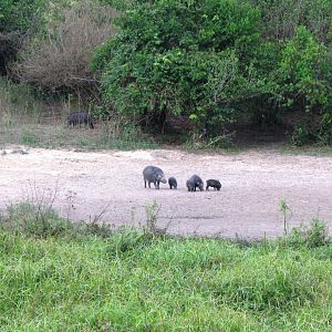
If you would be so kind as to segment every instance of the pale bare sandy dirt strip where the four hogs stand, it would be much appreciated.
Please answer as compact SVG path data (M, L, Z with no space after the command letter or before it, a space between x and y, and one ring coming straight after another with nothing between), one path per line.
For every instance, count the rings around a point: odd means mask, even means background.
M178 189L145 189L142 170L159 166L175 176ZM217 178L220 191L188 193L193 174ZM30 148L28 154L0 155L0 208L31 194L58 190L54 206L72 220L120 225L144 222L145 206L160 206L158 224L168 231L221 237L274 237L283 231L279 201L284 198L291 227L319 216L332 222L332 157L281 155L247 151L236 155L179 151L75 152ZM30 193L30 194L29 194ZM70 208L72 196L73 208Z

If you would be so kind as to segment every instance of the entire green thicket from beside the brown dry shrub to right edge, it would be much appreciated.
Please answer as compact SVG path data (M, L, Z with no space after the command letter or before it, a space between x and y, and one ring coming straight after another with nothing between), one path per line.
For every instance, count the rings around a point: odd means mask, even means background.
M121 33L92 63L118 112L159 124L181 114L214 135L239 118L267 127L295 112L295 144L330 142L329 1L121 3Z

